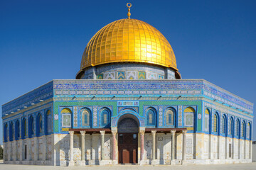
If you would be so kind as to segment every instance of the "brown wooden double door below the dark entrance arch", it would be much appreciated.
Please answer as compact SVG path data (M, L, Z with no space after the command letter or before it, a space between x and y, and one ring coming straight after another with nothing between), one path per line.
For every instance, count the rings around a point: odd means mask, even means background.
M136 164L138 139L137 134L123 133L118 137L119 164Z

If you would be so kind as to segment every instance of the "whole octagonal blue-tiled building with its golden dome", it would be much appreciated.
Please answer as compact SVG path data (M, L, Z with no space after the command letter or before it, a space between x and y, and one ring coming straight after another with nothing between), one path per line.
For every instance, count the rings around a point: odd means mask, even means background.
M203 79L181 79L156 28L121 19L88 42L74 80L2 106L4 164L252 162L253 104Z

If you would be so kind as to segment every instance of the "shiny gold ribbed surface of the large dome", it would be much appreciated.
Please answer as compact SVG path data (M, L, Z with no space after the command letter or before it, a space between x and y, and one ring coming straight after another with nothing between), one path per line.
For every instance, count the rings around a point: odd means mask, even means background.
M100 29L85 48L80 70L112 62L146 62L178 70L164 35L137 19L120 19Z

